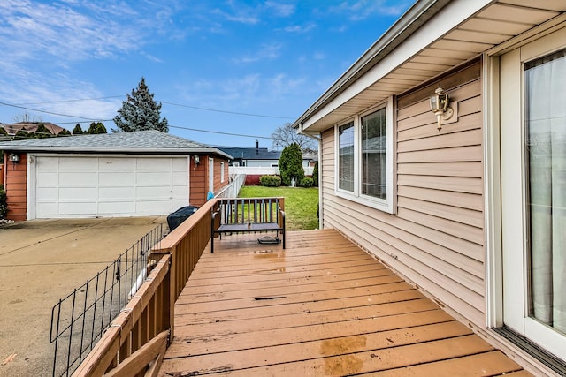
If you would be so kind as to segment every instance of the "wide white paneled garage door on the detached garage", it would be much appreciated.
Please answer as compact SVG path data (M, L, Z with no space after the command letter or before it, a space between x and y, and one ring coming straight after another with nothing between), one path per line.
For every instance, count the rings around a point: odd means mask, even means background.
M188 204L187 157L35 156L33 164L31 218L166 215Z

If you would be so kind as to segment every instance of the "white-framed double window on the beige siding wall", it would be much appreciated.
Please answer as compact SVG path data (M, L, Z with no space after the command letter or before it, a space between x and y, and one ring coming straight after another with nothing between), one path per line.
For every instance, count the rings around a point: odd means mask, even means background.
M393 97L336 126L336 194L394 213Z

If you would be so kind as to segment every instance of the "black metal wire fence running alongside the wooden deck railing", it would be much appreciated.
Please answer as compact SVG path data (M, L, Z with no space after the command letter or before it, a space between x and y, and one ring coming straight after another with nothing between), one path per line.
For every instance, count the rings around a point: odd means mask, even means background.
M163 232L163 224L151 230L111 265L53 306L53 376L73 373L140 288L149 273L151 249L164 237Z

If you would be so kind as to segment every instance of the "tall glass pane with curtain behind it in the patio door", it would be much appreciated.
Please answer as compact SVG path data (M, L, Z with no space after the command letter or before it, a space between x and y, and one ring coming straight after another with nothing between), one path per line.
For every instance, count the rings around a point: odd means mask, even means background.
M530 315L566 333L566 51L525 64Z

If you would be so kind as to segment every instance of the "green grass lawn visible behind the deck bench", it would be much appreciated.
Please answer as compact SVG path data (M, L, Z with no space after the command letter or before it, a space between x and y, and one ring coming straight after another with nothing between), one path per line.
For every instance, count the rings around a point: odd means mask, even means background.
M285 198L285 222L287 230L311 230L318 228L318 189L302 187L242 186L241 198Z

